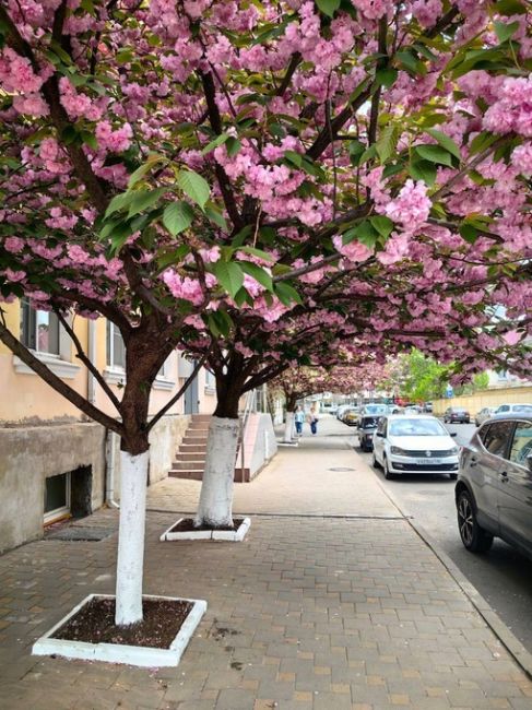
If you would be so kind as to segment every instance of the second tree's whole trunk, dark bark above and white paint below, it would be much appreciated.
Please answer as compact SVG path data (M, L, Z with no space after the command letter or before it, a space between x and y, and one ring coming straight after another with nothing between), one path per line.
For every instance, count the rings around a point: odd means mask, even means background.
M209 426L196 526L233 526L233 489L240 433L238 401L243 387L241 364L238 362L233 362L226 374L216 372L217 405Z

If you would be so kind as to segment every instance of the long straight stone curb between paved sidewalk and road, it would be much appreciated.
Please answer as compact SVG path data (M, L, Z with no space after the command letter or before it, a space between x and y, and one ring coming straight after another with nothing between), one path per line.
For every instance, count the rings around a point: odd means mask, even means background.
M486 622L487 626L492 629L494 635L503 643L516 663L522 668L528 678L532 679L532 653L528 651L521 641L510 631L506 624L498 616L497 612L486 602L484 596L476 590L475 587L469 581L465 575L458 568L447 553L440 549L438 543L427 533L427 531L415 522L413 516L407 514L395 500L394 496L386 489L381 481L368 465L371 473L375 475L383 494L391 500L393 506L399 510L404 520L409 523L412 530L417 534L425 545L431 549L439 561L447 569L452 579L462 590L462 593L469 599L473 607L478 612L482 618Z

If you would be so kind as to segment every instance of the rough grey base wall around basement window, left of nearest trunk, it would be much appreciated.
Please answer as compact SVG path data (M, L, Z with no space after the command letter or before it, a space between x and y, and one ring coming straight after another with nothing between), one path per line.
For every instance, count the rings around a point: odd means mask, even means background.
M98 424L0 428L0 553L43 536L45 480L91 466L91 508L105 495L105 429Z

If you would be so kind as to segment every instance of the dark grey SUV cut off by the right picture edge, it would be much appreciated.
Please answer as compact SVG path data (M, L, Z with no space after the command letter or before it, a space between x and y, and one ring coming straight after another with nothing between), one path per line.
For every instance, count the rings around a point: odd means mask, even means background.
M485 422L462 448L456 486L458 528L466 549L501 537L532 559L532 414Z

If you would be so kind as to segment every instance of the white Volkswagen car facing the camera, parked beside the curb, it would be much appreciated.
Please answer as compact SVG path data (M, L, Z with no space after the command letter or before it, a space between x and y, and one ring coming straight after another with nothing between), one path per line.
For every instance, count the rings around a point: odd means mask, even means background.
M451 436L430 415L383 416L374 434L373 464L382 466L386 478L402 473L447 473L454 480L460 449Z

